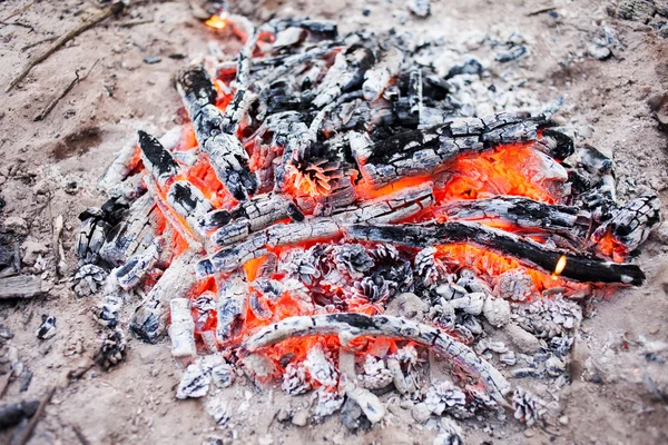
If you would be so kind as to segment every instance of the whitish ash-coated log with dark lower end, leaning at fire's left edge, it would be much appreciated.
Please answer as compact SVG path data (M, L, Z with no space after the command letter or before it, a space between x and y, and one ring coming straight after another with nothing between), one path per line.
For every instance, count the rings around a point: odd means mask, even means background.
M195 285L193 265L197 260L197 254L185 251L174 259L150 289L130 319L129 328L139 339L155 343L165 333L169 301L171 298L187 296L188 290Z

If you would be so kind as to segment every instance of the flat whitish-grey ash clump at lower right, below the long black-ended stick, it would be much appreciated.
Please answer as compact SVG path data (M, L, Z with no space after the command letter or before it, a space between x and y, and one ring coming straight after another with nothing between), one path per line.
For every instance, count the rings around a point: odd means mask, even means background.
M539 338L552 338L572 332L582 320L582 309L557 295L530 304L513 304L511 318Z

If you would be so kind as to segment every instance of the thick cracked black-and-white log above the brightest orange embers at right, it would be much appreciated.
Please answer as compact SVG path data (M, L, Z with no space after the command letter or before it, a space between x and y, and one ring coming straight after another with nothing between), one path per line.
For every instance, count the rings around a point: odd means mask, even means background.
M502 144L539 139L550 122L515 113L459 118L435 127L401 132L353 147L362 175L374 187L409 176L433 174L460 155L480 154Z

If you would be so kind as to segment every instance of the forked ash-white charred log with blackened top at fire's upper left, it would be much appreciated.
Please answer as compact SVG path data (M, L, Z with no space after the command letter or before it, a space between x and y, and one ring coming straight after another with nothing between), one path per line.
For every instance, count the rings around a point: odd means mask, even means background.
M248 154L234 132L239 113L243 115L250 99L239 93L238 99L235 97L236 106L225 115L213 105L215 97L212 101L207 82L213 88L204 68L193 66L181 72L177 89L193 121L197 144L209 156L216 177L235 199L243 201L257 190L257 177L250 171Z

